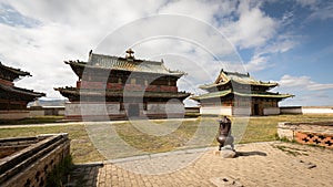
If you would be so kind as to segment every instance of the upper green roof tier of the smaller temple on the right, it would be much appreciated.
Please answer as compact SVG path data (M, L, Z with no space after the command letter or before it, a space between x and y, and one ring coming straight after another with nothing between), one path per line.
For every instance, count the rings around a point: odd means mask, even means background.
M238 83L238 84L245 84L245 85L265 86L265 87L275 87L276 85L279 85L278 83L258 81L254 77L250 76L249 73L243 74L239 72L226 72L222 69L215 82L211 84L204 84L199 87L203 90L208 90L208 89L228 84L230 82Z

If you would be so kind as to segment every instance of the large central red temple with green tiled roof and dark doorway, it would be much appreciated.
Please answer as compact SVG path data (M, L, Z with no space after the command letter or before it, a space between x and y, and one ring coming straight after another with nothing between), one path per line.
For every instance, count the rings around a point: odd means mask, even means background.
M65 61L79 77L75 87L54 89L70 101L67 118L182 116L182 102L190 93L179 92L176 81L185 73L133 53L130 49L121 58L90 51L88 62Z

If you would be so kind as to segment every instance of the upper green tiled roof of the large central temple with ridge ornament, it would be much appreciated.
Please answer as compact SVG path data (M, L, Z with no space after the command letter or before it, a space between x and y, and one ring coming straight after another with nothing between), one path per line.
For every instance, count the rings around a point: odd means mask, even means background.
M118 70L140 73L154 73L172 76L182 76L185 73L181 71L171 71L164 66L163 60L148 61L135 59L132 50L127 51L129 55L125 58L95 54L92 51L89 53L88 62L83 61L65 61L64 63L70 64L75 74L81 77L82 67L101 69L101 70Z

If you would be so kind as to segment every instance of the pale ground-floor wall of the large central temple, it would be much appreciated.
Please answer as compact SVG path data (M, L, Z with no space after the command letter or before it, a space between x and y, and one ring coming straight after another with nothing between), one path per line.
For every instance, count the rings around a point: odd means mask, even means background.
M134 108L135 114L131 114ZM130 118L183 118L185 115L184 104L181 102L165 103L67 103L65 118L78 121L110 121Z

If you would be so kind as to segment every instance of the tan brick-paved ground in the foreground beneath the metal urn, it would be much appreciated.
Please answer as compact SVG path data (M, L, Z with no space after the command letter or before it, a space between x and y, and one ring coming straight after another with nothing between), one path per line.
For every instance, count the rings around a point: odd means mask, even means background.
M78 166L78 186L332 186L333 150L271 142L236 145L236 158L213 148ZM80 181L79 181L80 179Z

